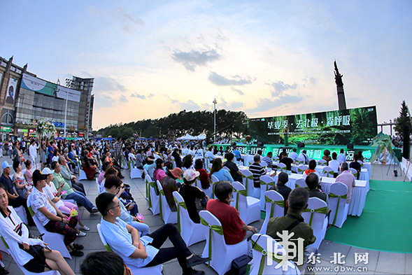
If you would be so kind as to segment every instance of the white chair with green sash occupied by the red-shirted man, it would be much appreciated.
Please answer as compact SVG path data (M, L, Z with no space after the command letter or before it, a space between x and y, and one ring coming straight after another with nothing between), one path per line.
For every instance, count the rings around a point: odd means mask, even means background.
M223 275L232 267L232 261L241 255L248 253L248 244L246 239L239 244L226 244L223 237L222 224L209 211L200 211L201 224L206 226L206 246L202 254L203 258L211 258L208 265L216 273Z

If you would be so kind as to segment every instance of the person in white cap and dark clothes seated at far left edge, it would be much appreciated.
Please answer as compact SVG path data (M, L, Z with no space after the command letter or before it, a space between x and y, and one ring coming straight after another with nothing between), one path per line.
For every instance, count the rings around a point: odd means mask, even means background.
M23 206L24 210L26 211L28 225L34 225L33 218L31 218L29 209L27 208L27 199L22 197L17 193L15 188L13 187L13 181L10 178L10 167L12 165L8 164L7 160L5 160L1 164L1 169L3 169L3 174L0 177L0 183L6 189L7 197L8 197L8 204L13 206L13 208Z

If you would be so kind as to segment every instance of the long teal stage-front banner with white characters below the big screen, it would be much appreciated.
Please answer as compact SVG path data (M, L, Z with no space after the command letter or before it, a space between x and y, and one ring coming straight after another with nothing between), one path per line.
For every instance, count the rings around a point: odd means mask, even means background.
M213 146L223 146L223 150L229 147L229 150L232 151L230 144L213 144ZM243 143L236 143L238 150L241 154L244 155L255 155L257 150L262 150L262 155L267 155L270 151L274 153L274 156L278 156L282 151L282 148L286 148L286 152L289 155L292 152L293 148L297 148L297 154L301 153L301 150L306 150L306 155L313 160L321 160L323 156L323 151L326 149L330 151L332 156L333 152L336 152L339 155L339 151L343 149L345 151L346 159L353 160L353 155L357 154L359 151L362 151L362 156L365 158L365 162L368 162L372 157L372 154L375 152L376 147L371 146L353 146L353 149L348 149L347 146L336 146L336 145L305 145L304 148L298 148L297 145L285 146L284 144L265 144L264 146L256 145L246 145ZM398 159L401 157L401 149L393 148Z

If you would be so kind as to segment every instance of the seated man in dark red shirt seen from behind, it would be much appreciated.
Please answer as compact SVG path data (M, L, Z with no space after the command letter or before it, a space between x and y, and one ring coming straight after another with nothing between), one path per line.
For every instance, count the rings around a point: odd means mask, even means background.
M239 244L246 236L246 230L255 234L256 227L243 223L239 212L229 204L232 197L233 187L229 181L219 181L215 185L215 197L210 199L206 210L210 211L222 224L223 237L226 244Z

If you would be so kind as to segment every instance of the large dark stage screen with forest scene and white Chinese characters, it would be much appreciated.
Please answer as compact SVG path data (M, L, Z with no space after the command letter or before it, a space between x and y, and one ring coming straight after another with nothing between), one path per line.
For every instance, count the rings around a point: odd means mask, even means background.
M267 144L369 145L377 134L376 106L248 120L248 135Z

